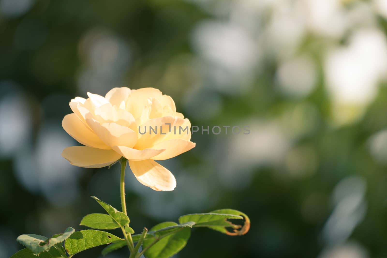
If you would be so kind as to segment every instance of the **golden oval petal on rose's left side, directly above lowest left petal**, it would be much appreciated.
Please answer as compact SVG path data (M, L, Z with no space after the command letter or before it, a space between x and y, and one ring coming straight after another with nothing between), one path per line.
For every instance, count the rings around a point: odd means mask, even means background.
M86 126L76 114L68 114L62 120L63 129L80 144L98 149L109 150L98 136Z

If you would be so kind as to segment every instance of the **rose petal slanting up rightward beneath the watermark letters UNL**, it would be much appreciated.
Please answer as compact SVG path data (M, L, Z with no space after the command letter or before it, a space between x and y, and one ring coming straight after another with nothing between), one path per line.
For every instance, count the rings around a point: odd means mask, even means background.
M143 150L162 142L179 130L184 120L174 116L164 116L148 120L139 127L139 139L135 149Z

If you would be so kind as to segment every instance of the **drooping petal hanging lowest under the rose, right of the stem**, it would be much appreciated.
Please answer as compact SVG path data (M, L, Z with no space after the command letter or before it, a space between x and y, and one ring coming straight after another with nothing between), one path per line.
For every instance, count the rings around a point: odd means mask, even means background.
M156 191L172 191L176 187L176 179L165 167L152 159L144 161L128 161L130 169L137 180Z

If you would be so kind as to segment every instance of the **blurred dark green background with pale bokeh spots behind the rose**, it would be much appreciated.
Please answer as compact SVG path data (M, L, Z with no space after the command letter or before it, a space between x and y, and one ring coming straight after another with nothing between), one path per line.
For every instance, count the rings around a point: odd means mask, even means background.
M250 232L192 231L175 258L387 256L387 1L0 0L0 257L120 207L119 167L61 157L75 96L156 87L197 126L163 162L172 192L127 170L136 232L234 208ZM119 235L119 232L116 232ZM102 247L77 257L101 257ZM127 257L126 250L108 258Z

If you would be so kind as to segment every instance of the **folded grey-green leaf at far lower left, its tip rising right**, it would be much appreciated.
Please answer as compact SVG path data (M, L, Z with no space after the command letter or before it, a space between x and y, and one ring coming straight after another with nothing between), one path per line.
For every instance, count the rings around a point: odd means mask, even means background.
M74 231L75 229L68 227L64 233L53 235L50 238L35 234L25 234L17 237L16 240L30 249L33 253L38 254L43 251L47 251L55 244L62 243L72 233L74 233Z

